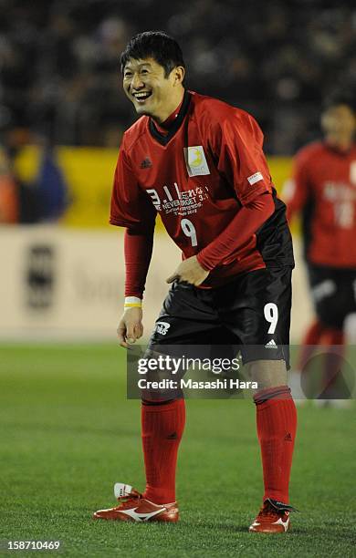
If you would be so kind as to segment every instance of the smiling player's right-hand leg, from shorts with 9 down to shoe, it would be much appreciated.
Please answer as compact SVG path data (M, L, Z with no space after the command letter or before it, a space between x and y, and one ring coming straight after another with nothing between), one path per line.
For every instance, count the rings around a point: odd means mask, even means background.
M219 303L224 325L243 343L248 375L258 384L254 399L265 493L251 531L284 532L291 510L288 485L297 429L287 381L291 269L258 270L238 277L236 284L225 288Z

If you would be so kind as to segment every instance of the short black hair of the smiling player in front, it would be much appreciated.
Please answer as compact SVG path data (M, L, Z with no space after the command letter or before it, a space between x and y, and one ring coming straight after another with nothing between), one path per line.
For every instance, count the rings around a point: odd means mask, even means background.
M121 53L121 72L130 58L140 60L149 57L164 68L165 78L168 78L174 67L185 67L181 47L172 36L163 31L145 31L133 36Z

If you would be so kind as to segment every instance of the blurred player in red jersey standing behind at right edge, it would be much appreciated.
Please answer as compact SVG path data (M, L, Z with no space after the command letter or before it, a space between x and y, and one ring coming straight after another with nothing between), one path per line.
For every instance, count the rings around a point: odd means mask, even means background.
M302 370L319 344L334 348L325 356L319 398L340 404L335 380L342 357L344 325L356 313L356 146L354 98L334 93L321 115L324 140L300 150L294 181L287 191L288 220L300 212L304 256L316 320L303 340ZM293 377L293 389L300 379Z

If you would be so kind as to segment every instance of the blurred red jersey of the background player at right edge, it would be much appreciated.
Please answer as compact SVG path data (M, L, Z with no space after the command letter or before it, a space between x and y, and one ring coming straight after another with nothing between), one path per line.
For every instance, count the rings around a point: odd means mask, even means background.
M302 211L307 260L356 267L356 146L341 152L323 142L300 150L288 218Z

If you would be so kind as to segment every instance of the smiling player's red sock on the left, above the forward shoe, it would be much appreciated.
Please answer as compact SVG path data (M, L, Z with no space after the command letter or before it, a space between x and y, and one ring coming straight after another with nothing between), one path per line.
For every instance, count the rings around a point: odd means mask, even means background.
M175 467L185 424L184 399L142 403L142 446L146 469L144 497L154 503L175 501Z

